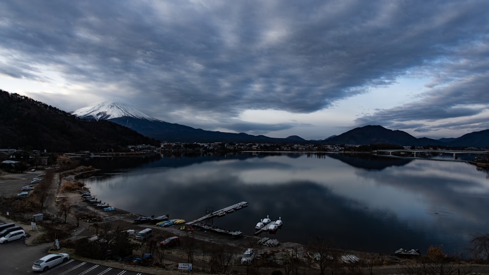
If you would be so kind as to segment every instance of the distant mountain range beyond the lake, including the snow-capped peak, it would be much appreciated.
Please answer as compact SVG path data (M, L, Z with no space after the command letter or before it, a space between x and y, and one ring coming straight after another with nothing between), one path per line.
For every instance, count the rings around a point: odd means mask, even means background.
M489 148L489 129L463 135L459 138L416 138L401 130L390 130L382 126L365 126L349 130L340 135L333 135L322 141L305 140L299 136L271 138L264 135L246 133L226 133L196 129L175 123L168 123L118 103L102 103L78 109L72 114L87 119L103 119L129 127L145 136L167 142L182 143L323 143L323 144L393 144L400 146L447 146L447 147L481 147Z

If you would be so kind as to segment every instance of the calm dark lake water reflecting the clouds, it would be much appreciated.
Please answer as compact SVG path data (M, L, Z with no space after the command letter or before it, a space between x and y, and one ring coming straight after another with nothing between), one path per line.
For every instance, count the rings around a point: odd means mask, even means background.
M320 236L343 249L423 253L434 245L467 254L472 237L489 233L488 172L464 162L242 153L90 164L106 174L85 181L111 206L190 221L247 201L214 226L252 235L260 219L281 217L272 236L280 242Z

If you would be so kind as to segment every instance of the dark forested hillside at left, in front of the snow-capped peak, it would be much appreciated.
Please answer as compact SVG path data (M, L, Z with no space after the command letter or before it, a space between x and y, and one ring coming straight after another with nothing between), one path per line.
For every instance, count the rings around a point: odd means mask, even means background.
M65 111L0 90L0 148L50 152L125 151L128 145L159 141L110 121L85 121Z

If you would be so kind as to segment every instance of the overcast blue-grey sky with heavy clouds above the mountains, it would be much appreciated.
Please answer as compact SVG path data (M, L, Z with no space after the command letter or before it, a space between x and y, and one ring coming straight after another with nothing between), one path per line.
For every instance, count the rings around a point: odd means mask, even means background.
M0 89L206 130L489 128L489 1L0 1Z

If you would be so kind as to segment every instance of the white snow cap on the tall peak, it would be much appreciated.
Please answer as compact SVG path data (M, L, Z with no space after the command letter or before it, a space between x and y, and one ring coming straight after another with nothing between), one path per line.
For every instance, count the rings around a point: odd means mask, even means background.
M71 114L83 118L91 118L95 120L99 119L111 119L118 117L133 117L139 119L146 119L150 121L156 121L156 119L144 114L133 107L129 107L120 103L102 102L97 105L87 106L80 108Z

